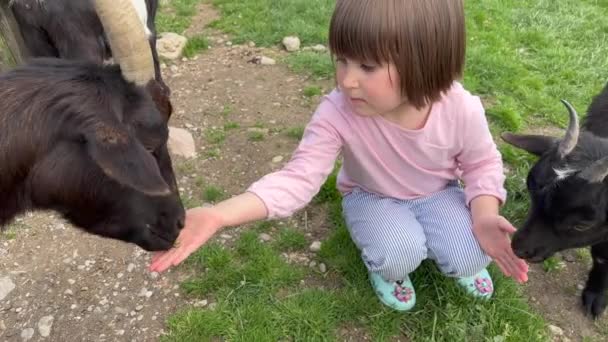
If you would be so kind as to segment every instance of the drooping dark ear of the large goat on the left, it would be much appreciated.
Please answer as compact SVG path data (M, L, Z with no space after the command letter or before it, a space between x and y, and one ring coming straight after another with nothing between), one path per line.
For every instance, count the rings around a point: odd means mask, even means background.
M89 155L108 177L148 195L170 193L152 155L126 131L97 123L85 136Z

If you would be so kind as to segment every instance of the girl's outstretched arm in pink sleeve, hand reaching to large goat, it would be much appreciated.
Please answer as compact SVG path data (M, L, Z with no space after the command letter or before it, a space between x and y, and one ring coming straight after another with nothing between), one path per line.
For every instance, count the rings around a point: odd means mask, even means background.
M281 170L214 207L188 210L176 246L156 253L150 270L162 272L181 263L222 227L287 217L308 204L333 169L342 147L338 130L331 122L336 119L334 113L328 102L319 106L293 157Z

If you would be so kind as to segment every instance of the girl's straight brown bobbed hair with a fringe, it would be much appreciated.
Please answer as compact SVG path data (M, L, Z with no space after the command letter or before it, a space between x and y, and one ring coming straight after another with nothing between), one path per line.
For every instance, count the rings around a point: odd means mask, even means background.
M337 0L329 28L333 56L394 63L417 108L462 76L465 47L463 0Z

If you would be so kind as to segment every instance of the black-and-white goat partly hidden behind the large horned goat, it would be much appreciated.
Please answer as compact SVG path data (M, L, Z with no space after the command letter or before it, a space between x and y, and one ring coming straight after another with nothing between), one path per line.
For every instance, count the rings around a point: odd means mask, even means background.
M158 0L131 2L140 19L146 21L155 79L168 98L170 89L162 79L156 50ZM81 59L97 64L112 57L93 0L11 0L10 4L30 56Z

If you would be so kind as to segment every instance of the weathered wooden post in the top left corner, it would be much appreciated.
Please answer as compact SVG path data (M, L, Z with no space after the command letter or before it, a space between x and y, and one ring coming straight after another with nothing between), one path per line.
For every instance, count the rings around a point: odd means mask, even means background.
M22 64L27 48L8 0L0 0L0 71Z

